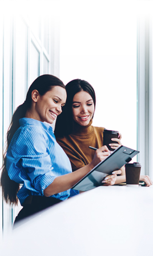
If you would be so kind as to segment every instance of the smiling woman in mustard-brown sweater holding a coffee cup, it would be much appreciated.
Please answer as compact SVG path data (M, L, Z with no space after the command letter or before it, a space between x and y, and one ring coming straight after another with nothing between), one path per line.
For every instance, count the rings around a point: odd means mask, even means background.
M70 159L73 171L89 164L94 158L94 150L88 146L99 149L103 146L103 127L92 126L96 98L94 88L88 82L75 79L66 85L67 100L63 107L62 114L57 118L55 125L55 137L57 142ZM64 125L63 125L64 123ZM61 129L62 127L62 129ZM119 138L112 139L110 146L116 149L122 145ZM122 174L117 177L115 184L126 181L124 167ZM104 181L110 184L110 177ZM148 176L140 176L141 181L151 185L152 181Z

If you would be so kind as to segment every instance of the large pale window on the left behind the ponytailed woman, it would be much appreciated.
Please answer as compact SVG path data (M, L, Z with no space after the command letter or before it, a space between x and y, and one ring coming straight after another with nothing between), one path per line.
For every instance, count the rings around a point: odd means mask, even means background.
M30 3L29 3L30 4ZM30 13L21 14L17 11L14 15L5 12L0 17L0 28L2 31L0 37L0 87L1 108L0 118L0 163L2 166L2 151L6 141L7 129L10 125L12 114L22 104L26 97L26 92L30 84L43 73L58 75L59 70L59 48L53 49L54 40L57 35L52 29L50 16L43 18L41 15L33 18ZM54 24L55 26L55 24ZM55 67L54 67L55 66ZM21 209L19 207L10 207L4 201L0 194L0 237L7 234L10 230L15 216Z

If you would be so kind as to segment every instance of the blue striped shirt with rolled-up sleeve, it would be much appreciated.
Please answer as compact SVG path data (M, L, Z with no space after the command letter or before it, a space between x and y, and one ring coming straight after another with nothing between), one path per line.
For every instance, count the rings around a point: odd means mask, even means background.
M72 169L48 123L22 118L19 125L7 150L6 168L11 180L23 184L17 194L22 205L29 195L43 196L43 190L56 177L71 173ZM70 189L53 197L65 200L69 195Z

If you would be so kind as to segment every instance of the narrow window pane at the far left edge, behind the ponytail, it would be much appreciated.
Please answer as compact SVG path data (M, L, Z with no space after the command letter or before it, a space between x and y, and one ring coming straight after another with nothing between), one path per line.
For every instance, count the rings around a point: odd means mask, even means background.
M5 17L3 20L3 68L2 68L2 75L3 75L3 106L2 106L2 115L3 119L1 122L1 128L2 128L2 143L3 148L5 149L5 142L6 142L6 133L8 130L8 127L10 125L11 116L12 116L12 86L13 86L13 20L11 17ZM1 155L2 157L2 155ZM0 198L1 201L2 197ZM11 208L10 205L6 205L5 203L2 204L2 217L1 223L3 224L3 227L5 227L5 230L3 230L3 235L5 236L7 232L10 230L10 224L11 224Z

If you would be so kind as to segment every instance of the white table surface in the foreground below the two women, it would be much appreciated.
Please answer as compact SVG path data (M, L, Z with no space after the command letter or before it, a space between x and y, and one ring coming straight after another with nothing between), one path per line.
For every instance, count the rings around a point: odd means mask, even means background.
M39 213L3 241L9 255L153 255L153 186L98 187Z

